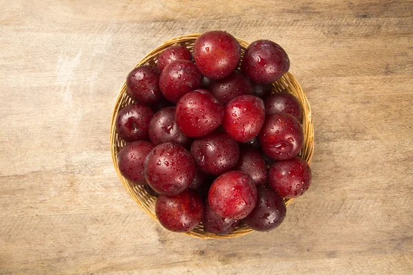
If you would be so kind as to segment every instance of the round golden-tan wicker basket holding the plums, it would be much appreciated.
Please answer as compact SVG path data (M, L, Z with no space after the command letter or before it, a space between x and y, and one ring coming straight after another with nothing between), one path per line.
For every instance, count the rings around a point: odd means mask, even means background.
M176 44L181 44L185 45L191 52L193 52L193 43L195 39L198 38L200 34L188 34L185 36L179 36L174 39L171 39L156 49L152 50L147 54L142 61L138 63L137 66L140 65L156 65L156 60L159 56L159 54L167 49L167 47L170 47L171 45L176 45ZM244 50L246 47L248 47L249 43L242 40L242 39L237 39L242 47L242 55L244 54ZM311 118L311 109L310 109L310 104L308 103L308 100L306 98L306 95L304 94L304 91L301 89L299 83L297 80L295 80L294 76L287 72L282 76L281 79L277 80L273 84L273 92L278 92L278 91L288 91L288 93L293 94L301 103L301 106L303 107L303 129L304 129L304 146L301 149L301 152L299 155L306 159L306 161L309 163L311 157L313 156L313 145L314 145L314 129L313 129L313 121ZM125 186L127 192L129 192L129 195L138 203L138 206L142 208L150 217L153 219L156 219L156 214L155 214L155 203L156 203L156 197L153 197L149 195L149 193L145 190L143 186L133 184L125 177L120 175L120 171L118 168L118 163L116 160L116 155L118 155L118 151L120 148L125 146L125 141L123 141L118 134L116 133L116 128L115 128L115 120L116 116L118 115L118 111L125 107L128 104L133 103L134 100L132 100L126 90L126 84L124 83L122 86L122 89L120 89L120 92L118 94L118 98L116 99L116 104L114 107L114 111L112 113L112 121L111 121L111 129L110 129L110 144L111 144L111 151L112 151L112 161L114 162L114 166L116 169L116 173L118 173L118 176L120 178L120 181L122 181L123 186ZM290 203L291 199L286 200L286 204ZM226 235L218 235L218 234L213 234L209 232L204 232L202 223L198 225L193 231L191 232L184 232L183 234L188 234L189 236L195 236L201 239L211 239L211 238L231 238L235 236L242 236L244 234L250 233L253 230L251 228L248 228L244 224L240 224L233 232L230 234Z

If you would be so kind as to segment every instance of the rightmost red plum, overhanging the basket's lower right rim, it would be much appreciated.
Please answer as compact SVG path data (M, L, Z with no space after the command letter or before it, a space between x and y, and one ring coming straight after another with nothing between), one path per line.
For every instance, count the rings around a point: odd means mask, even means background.
M282 197L299 197L310 187L311 169L301 157L281 160L271 165L268 181Z

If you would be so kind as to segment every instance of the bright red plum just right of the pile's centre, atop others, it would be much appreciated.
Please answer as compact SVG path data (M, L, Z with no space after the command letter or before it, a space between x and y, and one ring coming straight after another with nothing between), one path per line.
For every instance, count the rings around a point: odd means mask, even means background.
M248 142L260 133L265 120L264 102L257 96L237 96L225 106L222 128L233 140Z

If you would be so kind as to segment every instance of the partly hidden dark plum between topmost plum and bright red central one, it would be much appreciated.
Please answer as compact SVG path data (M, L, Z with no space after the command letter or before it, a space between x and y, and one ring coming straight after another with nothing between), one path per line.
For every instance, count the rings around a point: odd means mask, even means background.
M225 78L213 80L209 89L222 102L228 103L237 96L253 94L253 84L242 72L235 70Z

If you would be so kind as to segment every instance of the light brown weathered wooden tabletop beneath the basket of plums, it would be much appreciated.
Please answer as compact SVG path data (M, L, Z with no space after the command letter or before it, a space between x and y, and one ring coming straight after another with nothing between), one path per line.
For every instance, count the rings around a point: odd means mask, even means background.
M413 274L412 1L0 1L1 274ZM112 166L125 76L175 36L284 47L313 185L277 230L168 232Z

